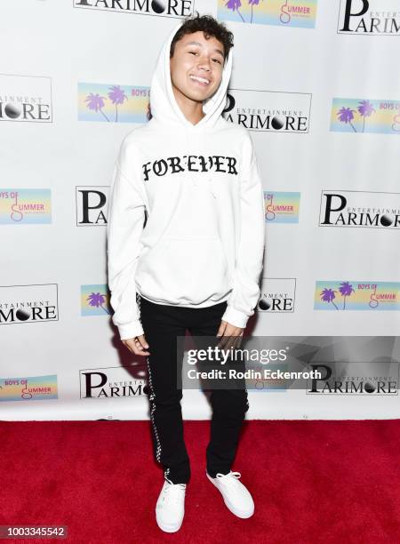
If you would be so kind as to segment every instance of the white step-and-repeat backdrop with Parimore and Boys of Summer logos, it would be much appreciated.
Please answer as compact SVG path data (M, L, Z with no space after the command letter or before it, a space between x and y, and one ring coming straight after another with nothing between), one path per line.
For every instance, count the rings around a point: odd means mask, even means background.
M158 52L195 11L234 33L223 115L264 186L246 333L322 370L250 377L247 418L400 417L399 0L0 4L0 418L148 419L145 361L111 322L108 191ZM200 388L182 408L211 413Z

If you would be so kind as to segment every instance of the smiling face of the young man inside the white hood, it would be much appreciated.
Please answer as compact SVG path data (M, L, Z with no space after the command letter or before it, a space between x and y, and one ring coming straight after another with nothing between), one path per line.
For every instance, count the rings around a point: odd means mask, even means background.
M224 46L213 36L206 40L202 30L186 34L175 44L170 65L175 96L202 103L220 86Z

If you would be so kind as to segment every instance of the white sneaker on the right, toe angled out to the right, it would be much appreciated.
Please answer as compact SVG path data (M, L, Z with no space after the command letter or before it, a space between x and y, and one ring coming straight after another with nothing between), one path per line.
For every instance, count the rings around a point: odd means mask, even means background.
M207 478L215 485L223 497L227 508L237 517L251 517L254 514L254 501L249 490L239 482L240 472L232 472L223 475L220 472L215 478L205 473Z

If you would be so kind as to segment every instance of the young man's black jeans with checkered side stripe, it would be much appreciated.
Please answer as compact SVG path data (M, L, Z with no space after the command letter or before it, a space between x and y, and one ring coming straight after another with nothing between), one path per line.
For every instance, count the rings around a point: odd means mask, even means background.
M208 308L179 308L155 304L138 295L140 320L148 340L148 388L153 451L164 468L164 477L173 484L187 484L190 478L188 452L183 438L180 406L182 389L177 387L177 362L182 367L183 352L177 336L186 330L194 336L216 336L226 302ZM179 359L178 359L179 356ZM247 391L212 389L211 438L206 449L206 468L210 476L228 474L245 412L249 409Z

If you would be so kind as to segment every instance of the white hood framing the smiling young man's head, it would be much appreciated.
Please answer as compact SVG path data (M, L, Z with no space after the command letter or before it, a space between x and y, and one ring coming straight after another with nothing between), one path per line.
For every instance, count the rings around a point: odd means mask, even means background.
M232 49L228 52L228 59L225 60L222 71L220 86L216 92L207 100L204 100L203 111L206 114L197 124L192 124L183 115L172 91L170 72L170 49L173 36L184 23L180 23L172 29L158 55L156 68L150 85L150 108L151 115L156 121L169 124L187 126L192 129L199 129L214 126L220 118L222 110L227 101L227 90L230 75L232 72Z

